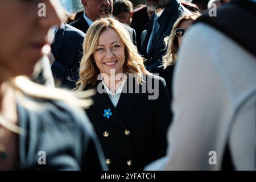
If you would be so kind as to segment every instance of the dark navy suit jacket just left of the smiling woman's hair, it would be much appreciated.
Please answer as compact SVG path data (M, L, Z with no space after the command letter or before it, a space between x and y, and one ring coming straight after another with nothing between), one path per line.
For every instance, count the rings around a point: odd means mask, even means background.
M62 23L51 45L55 62L52 64L53 77L61 82L62 87L75 88L79 79L79 64L82 58L82 43L85 34Z

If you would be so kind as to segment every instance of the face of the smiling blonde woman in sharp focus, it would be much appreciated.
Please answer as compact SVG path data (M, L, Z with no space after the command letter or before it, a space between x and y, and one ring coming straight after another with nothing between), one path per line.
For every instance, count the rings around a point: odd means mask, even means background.
M110 76L110 69L114 70L115 75L123 73L125 46L112 28L103 31L99 36L93 57L101 73Z

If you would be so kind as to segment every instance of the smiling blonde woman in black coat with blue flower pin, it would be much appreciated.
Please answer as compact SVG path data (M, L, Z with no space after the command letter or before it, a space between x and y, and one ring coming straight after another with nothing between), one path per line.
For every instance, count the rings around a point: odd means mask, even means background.
M141 170L166 152L171 110L165 81L146 71L118 20L96 20L83 46L77 86L78 90L97 89L86 113L104 148L105 162L111 170ZM147 89L152 82L158 97L150 100L152 92Z

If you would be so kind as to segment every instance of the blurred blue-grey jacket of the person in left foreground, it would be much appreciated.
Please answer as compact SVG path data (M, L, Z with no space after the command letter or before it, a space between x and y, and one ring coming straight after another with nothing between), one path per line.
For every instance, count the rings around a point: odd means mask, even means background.
M104 154L89 119L79 109L72 109L60 101L35 100L44 109L32 111L18 103L19 127L26 130L26 135L19 137L20 170L81 170L92 168L95 162L105 162ZM94 142L92 142L93 140ZM94 152L95 162L90 164L86 151ZM92 144L93 143L93 144ZM38 159L43 151L46 154L46 165L39 164ZM98 158L99 156L99 158ZM99 160L100 159L100 160ZM42 161L39 159L39 161ZM105 165L105 163L102 163ZM100 168L100 166L97 166ZM105 169L106 169L105 168Z

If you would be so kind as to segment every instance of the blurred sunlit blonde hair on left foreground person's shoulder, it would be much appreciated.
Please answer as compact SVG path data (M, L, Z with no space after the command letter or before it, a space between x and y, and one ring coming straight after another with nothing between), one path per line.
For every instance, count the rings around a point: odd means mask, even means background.
M40 64L38 64L40 65ZM35 70L40 71L40 68ZM63 101L76 109L87 108L92 105L90 97L94 94L93 90L83 92L71 92L60 88L51 88L32 82L27 76L11 76L10 72L0 65L2 80L13 88L16 100L29 110L42 111L46 107L41 102L32 101L27 96L42 100ZM13 131L16 134L26 135L26 131L14 123L7 120L0 113L0 125Z

